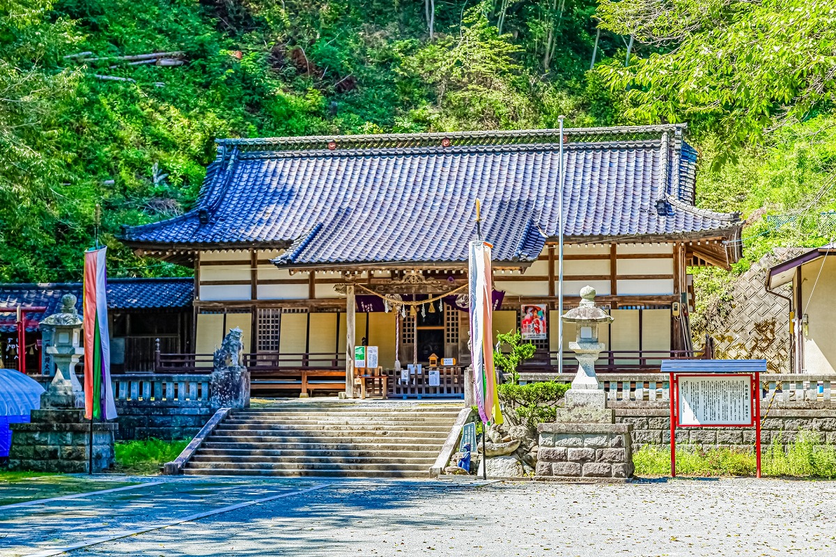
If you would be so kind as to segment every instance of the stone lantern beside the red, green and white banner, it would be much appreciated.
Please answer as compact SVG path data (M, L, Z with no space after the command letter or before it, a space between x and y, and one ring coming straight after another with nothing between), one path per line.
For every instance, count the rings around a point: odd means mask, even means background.
M55 363L55 377L41 395L42 409L84 408L84 392L78 377L75 377L75 365L84 354L84 348L79 346L82 321L75 302L76 297L72 294L64 295L59 312L41 322L42 326L53 331L53 342L46 352Z

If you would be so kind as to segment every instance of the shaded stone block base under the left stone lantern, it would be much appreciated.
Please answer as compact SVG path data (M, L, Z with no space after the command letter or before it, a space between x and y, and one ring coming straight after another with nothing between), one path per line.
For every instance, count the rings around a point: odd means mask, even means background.
M90 424L84 410L33 410L30 423L11 423L9 469L88 471ZM113 468L116 423L93 423L93 471Z

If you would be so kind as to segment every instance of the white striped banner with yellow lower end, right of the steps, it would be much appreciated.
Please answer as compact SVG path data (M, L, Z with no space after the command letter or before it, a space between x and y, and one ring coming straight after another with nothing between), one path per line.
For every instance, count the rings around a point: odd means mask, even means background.
M470 244L468 280L471 362L474 395L482 422L502 423L497 373L493 367L492 247L485 241L472 241Z

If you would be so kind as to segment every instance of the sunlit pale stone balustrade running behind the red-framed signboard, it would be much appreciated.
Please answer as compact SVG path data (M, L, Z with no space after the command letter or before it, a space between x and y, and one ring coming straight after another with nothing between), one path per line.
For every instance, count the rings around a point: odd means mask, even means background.
M596 369L597 371L597 369ZM572 382L574 373L521 372L520 382ZM608 373L599 382L612 403L668 403L670 385L667 373ZM805 374L761 374L763 403L821 403L836 407L836 376Z

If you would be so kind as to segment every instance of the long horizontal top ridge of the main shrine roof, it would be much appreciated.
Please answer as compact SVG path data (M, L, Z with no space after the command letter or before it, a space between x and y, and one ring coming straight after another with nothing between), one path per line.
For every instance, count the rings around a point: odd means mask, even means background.
M571 141L574 137L652 137L660 138L665 132L674 132L681 137L687 124L659 124L645 126L609 126L603 128L567 128L563 135ZM224 151L233 148L242 151L266 150L265 147L282 147L280 150L309 149L368 149L382 147L426 147L441 146L447 141L449 146L462 145L499 145L543 143L544 139L560 137L559 129L510 129L489 131L431 132L419 134L364 134L364 135L307 135L298 137L268 137L251 139L216 139L218 147ZM554 141L546 141L554 143Z

